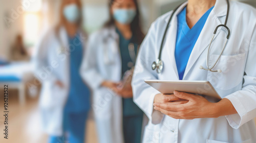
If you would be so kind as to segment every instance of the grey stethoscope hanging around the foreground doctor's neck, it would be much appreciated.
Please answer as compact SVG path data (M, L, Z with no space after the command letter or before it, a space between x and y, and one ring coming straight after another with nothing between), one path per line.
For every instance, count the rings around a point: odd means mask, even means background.
M211 38L211 41L210 41L210 44L209 44L209 47L208 47L207 56L206 56L206 66L207 66L207 68L204 68L202 65L200 65L200 66L199 66L200 69L208 70L208 71L211 71L211 72L218 72L218 73L221 73L221 72L222 72L221 69L212 70L212 68L214 68L215 65L217 64L217 62L219 61L219 59L220 59L220 57L221 57L221 55L222 55L222 53L223 53L223 51L224 51L224 49L225 49L225 47L226 47L227 41L228 41L228 39L229 39L229 37L230 37L230 30L229 30L229 28L226 26L226 25L227 25L227 20L228 20L228 15L229 15L229 2L228 2L228 0L226 0L226 2L227 2L227 16L226 16L225 24L224 24L224 25L219 25L219 26L216 27L216 29L215 29L215 31L214 31L214 36L212 36L212 38ZM170 18L169 18L169 20L168 20L168 23L167 23L167 26L166 26L166 28L165 28L164 35L163 35L163 38L162 38L162 42L161 42L161 46L160 46L160 51L159 51L158 59L157 59L156 62L153 62L153 64L152 64L152 69L153 69L153 70L156 69L156 71L157 71L158 74L160 74L161 71L162 71L162 69L163 69L163 61L161 60L161 54L162 54L162 50L163 50L164 39L165 39L165 37L166 37L166 33L167 33L168 28L169 28L169 24L170 24L170 22L172 21L173 16L174 16L175 12L179 9L179 7L180 7L180 6L178 6L178 7L173 11L172 15L170 16ZM226 39L226 42L225 42L225 44L224 44L224 47L223 47L223 49L222 49L222 51L221 51L221 53L220 53L218 59L216 60L216 62L214 63L214 65L212 65L211 67L209 67L209 63L208 63L208 62L209 62L210 46L211 46L212 41L214 40L214 37L215 37L215 34L217 33L217 30L218 30L220 27L224 27L224 28L227 29L227 31L228 31L227 39Z

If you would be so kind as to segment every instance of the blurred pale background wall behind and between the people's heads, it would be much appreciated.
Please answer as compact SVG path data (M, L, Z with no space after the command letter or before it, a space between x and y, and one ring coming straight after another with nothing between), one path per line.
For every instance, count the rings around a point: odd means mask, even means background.
M1 0L0 5L0 57L7 58L9 47L17 34L24 36L30 52L40 33L58 21L61 0ZM84 29L91 33L108 19L108 0L82 0ZM160 15L174 9L185 0L139 0L143 30L146 33L151 23ZM233 0L236 1L236 0ZM256 6L255 0L240 0ZM31 48L31 49L30 49Z

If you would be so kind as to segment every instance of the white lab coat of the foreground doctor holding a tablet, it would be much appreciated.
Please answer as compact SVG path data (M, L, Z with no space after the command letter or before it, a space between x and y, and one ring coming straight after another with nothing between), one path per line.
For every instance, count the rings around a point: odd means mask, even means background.
M227 26L231 36L214 68L222 69L222 73L199 69L200 65L206 67L207 47L212 34L226 18L226 1L217 0L191 52L183 77L183 80L189 81L209 81L222 98L231 101L238 113L218 118L176 120L153 109L154 97L159 92L143 80L179 80L174 56L176 15L186 4L177 10L167 31L162 51L164 67L161 74L152 70L152 63L158 58L163 33L172 12L161 16L152 24L141 45L132 86L134 101L150 119L143 142L256 142L253 121L256 117L256 10L245 4L230 2ZM210 66L221 53L225 40L226 30L220 28L211 45Z

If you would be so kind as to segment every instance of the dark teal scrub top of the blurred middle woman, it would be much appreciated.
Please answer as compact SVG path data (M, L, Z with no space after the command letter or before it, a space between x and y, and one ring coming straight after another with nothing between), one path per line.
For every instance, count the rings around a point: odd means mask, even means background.
M122 60L122 75L125 71L132 68L131 63L133 60L130 57L128 46L130 43L134 44L134 51L137 54L138 44L134 43L133 37L131 39L125 39L121 32L116 28L116 32L119 35L119 49ZM143 112L140 108L133 102L133 98L123 99L123 116L134 116L142 115Z

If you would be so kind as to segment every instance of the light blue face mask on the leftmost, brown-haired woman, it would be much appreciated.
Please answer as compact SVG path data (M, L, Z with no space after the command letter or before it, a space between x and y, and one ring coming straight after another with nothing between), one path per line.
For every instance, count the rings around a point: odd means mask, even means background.
M76 4L67 5L63 10L63 14L71 23L77 22L80 18L80 10Z

